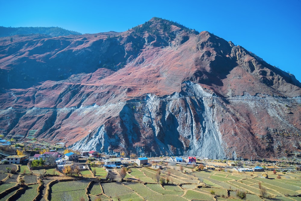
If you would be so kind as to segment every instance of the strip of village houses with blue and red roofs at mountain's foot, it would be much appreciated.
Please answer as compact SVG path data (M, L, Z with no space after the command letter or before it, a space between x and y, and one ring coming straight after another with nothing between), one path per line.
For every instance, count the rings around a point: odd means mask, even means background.
M44 149L45 150L45 149ZM20 152L20 151L19 151ZM77 152L77 153L75 153ZM55 151L45 151L40 154L35 154L27 158L26 155L22 155L23 152L20 152L20 155L8 155L2 159L2 164L23 164L28 165L30 169L42 169L45 167L55 167L60 172L65 172L66 167L73 166L73 168L78 168L79 170L87 170L92 166L102 166L107 171L110 171L111 168L122 168L127 166L150 166L151 168L157 170L162 169L164 166L168 165L180 165L186 166L188 168L193 168L196 171L198 170L212 170L212 171L221 171L223 169L233 170L237 172L264 172L265 170L273 171L295 171L299 170L299 166L277 166L275 163L255 163L255 162L241 162L241 161L217 161L217 160L200 160L197 157L135 157L133 159L129 158L118 158L106 156L100 154L97 151L70 151L65 150L65 153L55 152ZM5 154L0 153L0 154ZM8 153L6 153L8 154ZM121 154L124 155L124 154ZM135 156L135 155L133 155ZM35 162L43 161L40 165L35 165ZM91 162L93 161L93 162ZM42 165L41 165L42 164ZM255 164L264 164L258 166ZM262 174L263 177L268 178L266 174Z

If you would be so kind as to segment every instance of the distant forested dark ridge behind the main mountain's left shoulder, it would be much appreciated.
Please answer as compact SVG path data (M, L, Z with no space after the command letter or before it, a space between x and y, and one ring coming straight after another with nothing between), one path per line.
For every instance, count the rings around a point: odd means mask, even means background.
M53 37L81 35L81 33L79 32L69 31L59 27L2 27L0 26L0 37L24 35L24 34L45 34ZM12 40L14 40L14 37L12 37Z

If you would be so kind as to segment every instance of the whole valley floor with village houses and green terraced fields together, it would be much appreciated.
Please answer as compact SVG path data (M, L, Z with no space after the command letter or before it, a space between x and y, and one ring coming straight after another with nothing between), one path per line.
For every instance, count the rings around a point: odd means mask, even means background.
M14 150L0 151L3 200L269 200L275 196L286 200L288 195L301 195L300 166L294 160L135 154L127 158L125 152Z

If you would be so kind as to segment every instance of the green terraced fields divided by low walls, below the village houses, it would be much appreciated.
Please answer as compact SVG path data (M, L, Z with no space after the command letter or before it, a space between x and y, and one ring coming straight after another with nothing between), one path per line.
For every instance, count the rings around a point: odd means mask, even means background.
M94 167L92 167L93 169ZM23 167L22 170L27 170ZM262 201L262 200L290 200L301 201L301 174L300 172L287 172L282 174L277 172L273 174L271 171L266 173L271 179L261 178L261 173L238 173L238 172L222 172L222 171L198 171L194 172L186 168L186 173L179 170L178 167L165 168L160 171L160 181L157 182L156 170L146 167L130 168L130 172L124 179L124 182L104 182L100 178L104 178L107 172L100 167L95 167L96 176L91 171L81 171L83 178L93 177L91 179L79 179L77 181L66 181L64 177L53 175L45 178L44 194L47 191L46 184L50 181L58 180L59 182L52 184L49 189L50 200L84 200L94 201L101 200L172 200L172 201L188 201L188 200L240 200L236 195L236 190L246 192L246 200ZM191 171L189 171L191 170ZM44 171L44 170L39 170ZM2 175L2 183L0 184L0 200L6 200L16 193L11 190L4 193L5 190L18 184L19 178L25 180L25 185L39 183L39 171L35 174L21 175L21 173ZM53 171L53 170L50 170ZM112 169L113 172L119 174L120 170ZM277 178L280 175L281 178ZM65 178L65 180L61 179ZM117 176L116 178L119 178ZM168 180L168 183L167 183ZM46 182L47 181L47 182ZM266 190L265 197L262 199L262 191L259 184ZM39 184L29 185L26 190L16 196L15 200L33 200L37 195L37 187ZM88 193L88 194L87 194ZM42 198L42 200L46 200Z

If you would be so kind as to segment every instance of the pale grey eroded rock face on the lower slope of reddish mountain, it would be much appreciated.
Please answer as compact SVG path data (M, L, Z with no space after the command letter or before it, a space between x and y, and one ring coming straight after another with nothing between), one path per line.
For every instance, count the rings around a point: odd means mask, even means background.
M109 152L116 142L120 142L117 146L127 149L144 138L149 143L134 146L133 152L225 158L216 114L210 107L215 104L213 96L216 95L190 81L183 83L183 90L166 97L148 94L144 100L124 105L119 113L121 137L115 135L116 139L110 140L106 126L101 125L72 148ZM147 134L144 136L144 133Z

